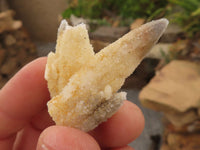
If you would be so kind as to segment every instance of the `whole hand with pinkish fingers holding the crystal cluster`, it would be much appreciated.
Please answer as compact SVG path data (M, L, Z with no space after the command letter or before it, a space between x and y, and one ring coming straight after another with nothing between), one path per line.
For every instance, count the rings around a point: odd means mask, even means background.
M140 109L124 101L107 122L89 133L55 126L47 112L46 58L21 69L0 91L1 150L132 150L144 128Z

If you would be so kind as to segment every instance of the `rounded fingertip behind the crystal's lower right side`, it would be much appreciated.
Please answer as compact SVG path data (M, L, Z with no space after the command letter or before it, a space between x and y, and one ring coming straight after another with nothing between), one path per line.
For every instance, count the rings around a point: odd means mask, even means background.
M136 139L144 128L144 116L133 103L125 101L119 111L90 134L102 147L121 147Z

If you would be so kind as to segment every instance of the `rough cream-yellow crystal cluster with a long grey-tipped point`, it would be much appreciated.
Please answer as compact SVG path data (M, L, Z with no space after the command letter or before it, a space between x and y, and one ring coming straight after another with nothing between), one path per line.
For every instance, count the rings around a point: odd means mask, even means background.
M52 96L48 110L56 124L89 131L111 117L126 99L125 92L116 92L167 24L166 19L147 23L94 54L85 25L63 21L45 72Z

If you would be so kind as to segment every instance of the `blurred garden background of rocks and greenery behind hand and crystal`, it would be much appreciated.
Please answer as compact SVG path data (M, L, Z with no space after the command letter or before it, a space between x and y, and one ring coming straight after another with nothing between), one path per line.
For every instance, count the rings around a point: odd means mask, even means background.
M145 115L136 150L200 150L200 0L0 0L0 88L55 51L62 19L87 24L95 52L159 18L170 24L123 90ZM134 116L132 116L134 117Z

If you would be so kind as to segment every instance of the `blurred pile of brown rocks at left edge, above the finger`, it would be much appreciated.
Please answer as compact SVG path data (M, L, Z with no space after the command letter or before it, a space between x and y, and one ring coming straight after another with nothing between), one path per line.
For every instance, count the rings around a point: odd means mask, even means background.
M22 66L37 58L27 31L13 20L13 15L13 11L0 13L0 88Z

